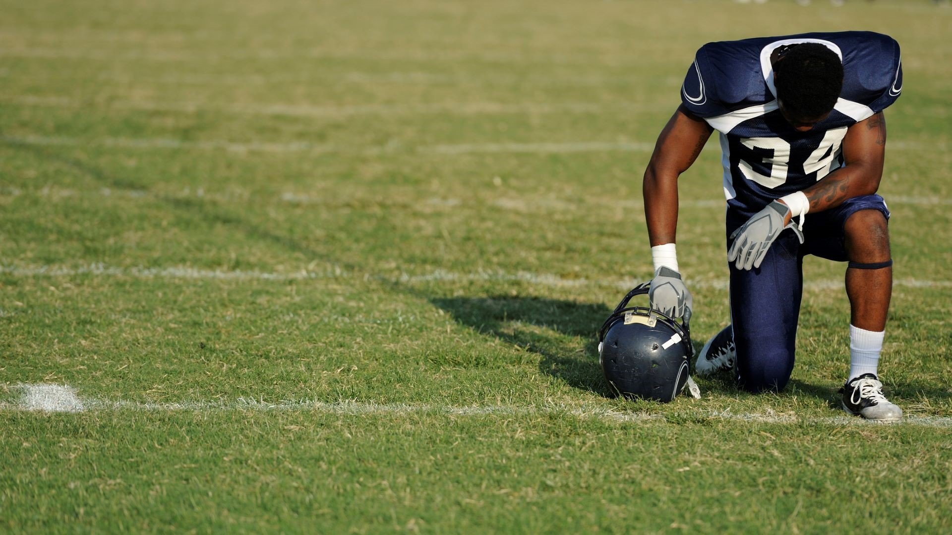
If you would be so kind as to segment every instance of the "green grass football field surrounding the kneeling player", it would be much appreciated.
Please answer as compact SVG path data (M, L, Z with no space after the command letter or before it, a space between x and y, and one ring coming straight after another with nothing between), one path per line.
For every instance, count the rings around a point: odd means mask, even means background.
M0 531L952 530L948 6L0 13ZM783 393L607 398L596 330L650 276L641 175L694 50L810 30L902 45L904 423L838 409L843 266L817 259ZM728 321L716 145L681 181L696 345ZM75 410L28 410L44 384Z

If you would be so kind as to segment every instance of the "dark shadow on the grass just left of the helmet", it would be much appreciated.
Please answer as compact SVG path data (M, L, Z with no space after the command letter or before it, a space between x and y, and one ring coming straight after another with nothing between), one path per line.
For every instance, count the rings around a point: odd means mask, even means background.
M446 297L430 301L461 325L525 351L565 384L610 395L598 360L598 329L611 309L538 297Z

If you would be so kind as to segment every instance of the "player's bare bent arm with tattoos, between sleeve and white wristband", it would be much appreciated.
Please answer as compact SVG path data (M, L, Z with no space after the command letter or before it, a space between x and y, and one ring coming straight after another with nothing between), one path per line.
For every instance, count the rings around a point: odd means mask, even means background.
M845 166L803 189L809 212L836 208L851 197L875 193L883 178L885 149L886 120L882 111L849 127L843 137Z

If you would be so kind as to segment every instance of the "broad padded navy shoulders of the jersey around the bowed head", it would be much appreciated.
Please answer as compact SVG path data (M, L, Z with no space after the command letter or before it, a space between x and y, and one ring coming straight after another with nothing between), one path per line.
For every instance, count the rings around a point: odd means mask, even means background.
M770 53L784 45L821 43L843 60L841 99L882 111L902 91L899 43L873 31L802 33L707 43L687 69L681 100L700 117L715 117L776 100Z

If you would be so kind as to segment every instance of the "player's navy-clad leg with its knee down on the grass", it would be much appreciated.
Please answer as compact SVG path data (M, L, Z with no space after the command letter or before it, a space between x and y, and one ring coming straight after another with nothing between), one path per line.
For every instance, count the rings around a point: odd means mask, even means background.
M778 391L793 371L803 293L799 242L785 231L760 268L730 266L730 313L738 385L751 392Z

